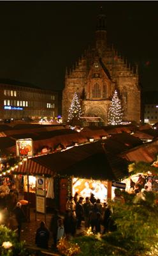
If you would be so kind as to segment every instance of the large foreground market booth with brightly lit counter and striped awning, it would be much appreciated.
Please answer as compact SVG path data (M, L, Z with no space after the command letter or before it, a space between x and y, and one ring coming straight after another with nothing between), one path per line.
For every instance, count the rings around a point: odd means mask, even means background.
M36 180L47 177L47 206L65 211L69 195L78 191L84 198L94 193L104 202L111 198L111 180L127 175L127 161L106 152L103 143L87 143L69 150L31 157L18 165L17 173L24 176L24 196L27 200L27 168L29 200L35 204ZM49 205L48 205L49 204Z

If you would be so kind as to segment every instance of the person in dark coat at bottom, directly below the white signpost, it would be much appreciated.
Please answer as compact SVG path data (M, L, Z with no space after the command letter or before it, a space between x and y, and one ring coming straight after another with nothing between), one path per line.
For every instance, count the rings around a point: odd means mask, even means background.
M41 221L40 227L36 230L35 244L40 248L48 249L48 240L50 232L45 226L45 222Z

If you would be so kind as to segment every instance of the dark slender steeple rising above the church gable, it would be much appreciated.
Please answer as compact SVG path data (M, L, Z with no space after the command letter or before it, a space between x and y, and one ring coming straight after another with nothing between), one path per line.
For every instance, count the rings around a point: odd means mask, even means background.
M96 26L96 49L101 56L106 49L107 39L106 39L106 15L104 15L102 7L100 9L99 15L97 15L97 26Z

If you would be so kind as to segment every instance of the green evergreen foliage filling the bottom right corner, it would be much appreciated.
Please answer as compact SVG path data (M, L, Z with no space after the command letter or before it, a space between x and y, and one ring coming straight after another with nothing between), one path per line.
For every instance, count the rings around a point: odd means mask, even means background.
M116 230L103 236L76 237L78 256L158 256L158 206L155 194L128 195L125 204L111 202Z

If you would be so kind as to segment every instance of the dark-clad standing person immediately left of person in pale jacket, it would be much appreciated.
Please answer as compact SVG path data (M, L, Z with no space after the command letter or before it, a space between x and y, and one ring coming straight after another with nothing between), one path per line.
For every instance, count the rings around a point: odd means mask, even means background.
M52 247L57 246L57 229L58 229L58 221L60 219L61 217L59 216L57 209L54 209L54 213L50 220L50 232L52 232L52 237L54 239L54 244L52 244Z

